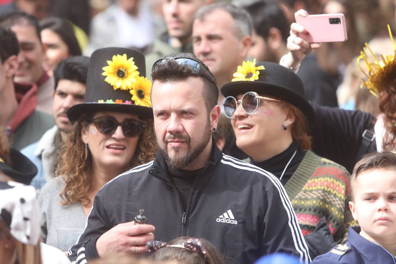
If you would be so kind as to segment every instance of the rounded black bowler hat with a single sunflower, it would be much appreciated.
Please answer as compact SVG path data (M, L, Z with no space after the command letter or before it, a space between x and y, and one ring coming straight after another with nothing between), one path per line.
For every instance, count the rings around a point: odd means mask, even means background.
M264 69L260 66L263 66ZM274 96L277 99L297 106L308 122L314 122L315 113L304 97L303 82L301 82L297 74L288 68L278 63L261 62L255 65L255 61L253 63L248 61L244 62L243 66L238 66L238 71L234 74L234 77L237 78L232 79L232 82L228 82L221 87L221 93L225 97L235 97L250 91Z

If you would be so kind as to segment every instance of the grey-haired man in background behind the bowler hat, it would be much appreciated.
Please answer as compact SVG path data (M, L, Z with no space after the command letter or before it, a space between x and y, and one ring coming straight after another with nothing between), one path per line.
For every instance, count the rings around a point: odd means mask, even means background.
M245 60L251 47L253 23L247 11L217 3L200 8L192 26L194 55L208 66L219 89ZM220 93L219 104L224 96Z

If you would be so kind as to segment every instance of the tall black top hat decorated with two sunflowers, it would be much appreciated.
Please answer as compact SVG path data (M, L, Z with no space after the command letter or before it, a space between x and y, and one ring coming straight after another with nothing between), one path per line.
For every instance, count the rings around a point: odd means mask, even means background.
M151 81L145 76L145 56L140 51L97 49L89 60L84 103L70 107L67 117L74 123L81 114L100 110L152 118Z

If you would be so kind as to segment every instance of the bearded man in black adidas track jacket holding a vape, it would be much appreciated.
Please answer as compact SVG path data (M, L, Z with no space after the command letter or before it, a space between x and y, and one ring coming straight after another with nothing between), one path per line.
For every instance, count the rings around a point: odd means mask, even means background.
M156 240L204 237L228 263L249 264L276 252L310 262L280 181L222 154L213 143L219 90L208 68L194 60L182 53L154 64L151 100L160 151L154 161L98 192L86 228L69 251L72 263L114 251L144 253L151 225ZM132 222L139 209L150 225Z

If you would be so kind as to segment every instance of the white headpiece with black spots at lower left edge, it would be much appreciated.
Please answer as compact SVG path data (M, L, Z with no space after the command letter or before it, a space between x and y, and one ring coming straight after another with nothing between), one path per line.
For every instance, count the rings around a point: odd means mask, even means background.
M36 190L18 182L0 182L0 220L15 239L37 245L40 236L40 215Z

